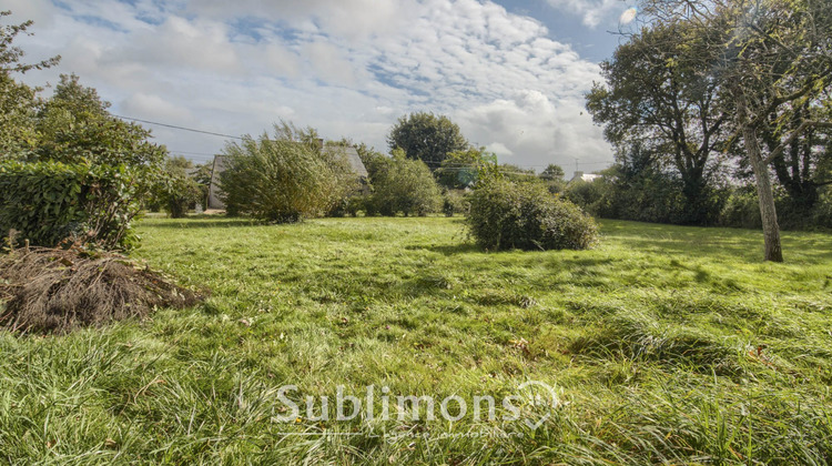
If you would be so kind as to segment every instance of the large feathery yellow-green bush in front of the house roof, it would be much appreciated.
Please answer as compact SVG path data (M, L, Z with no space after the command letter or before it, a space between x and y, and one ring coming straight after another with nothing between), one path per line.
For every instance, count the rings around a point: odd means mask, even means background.
M298 222L327 213L342 199L348 169L345 160L314 144L263 134L224 149L221 174L230 214L270 222Z

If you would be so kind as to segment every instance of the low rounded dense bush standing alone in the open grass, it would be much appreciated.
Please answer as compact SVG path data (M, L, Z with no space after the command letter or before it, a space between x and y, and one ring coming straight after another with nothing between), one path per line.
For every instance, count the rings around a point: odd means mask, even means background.
M478 186L467 221L488 250L584 250L598 241L592 217L537 183L494 180Z

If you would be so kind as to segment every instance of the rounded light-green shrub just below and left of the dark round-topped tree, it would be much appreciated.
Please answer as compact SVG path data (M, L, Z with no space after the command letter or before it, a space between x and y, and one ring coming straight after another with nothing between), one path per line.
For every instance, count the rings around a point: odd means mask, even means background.
M371 173L375 192L367 200L367 214L427 215L442 207L442 193L430 170L402 151L376 162Z

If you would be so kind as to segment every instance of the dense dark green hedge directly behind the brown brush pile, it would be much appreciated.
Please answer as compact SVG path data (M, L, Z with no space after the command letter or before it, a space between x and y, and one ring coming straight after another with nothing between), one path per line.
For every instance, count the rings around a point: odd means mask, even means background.
M124 165L0 163L0 230L54 246L65 239L103 249L135 245L131 222L143 183Z

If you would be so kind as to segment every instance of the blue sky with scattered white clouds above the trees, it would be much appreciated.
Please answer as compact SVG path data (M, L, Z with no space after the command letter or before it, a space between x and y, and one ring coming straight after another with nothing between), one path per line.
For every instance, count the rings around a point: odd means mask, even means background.
M445 114L501 163L571 173L612 160L584 94L619 42L628 0L2 0L31 19L16 42L112 103L111 112L222 134L274 122L388 152L410 112ZM625 20L626 21L626 20ZM50 92L44 90L44 95ZM220 136L143 124L203 163Z

